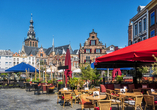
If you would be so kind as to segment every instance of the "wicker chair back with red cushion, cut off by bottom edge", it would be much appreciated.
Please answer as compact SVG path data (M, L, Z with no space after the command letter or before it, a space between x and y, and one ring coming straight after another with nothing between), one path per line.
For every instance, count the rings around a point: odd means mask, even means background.
M99 107L95 107L95 110L112 110L111 100L99 100L97 103Z

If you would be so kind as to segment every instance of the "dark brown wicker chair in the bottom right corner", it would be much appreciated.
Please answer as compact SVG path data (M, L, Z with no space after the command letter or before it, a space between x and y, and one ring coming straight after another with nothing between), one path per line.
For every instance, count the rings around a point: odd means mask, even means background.
M155 106L157 106L157 104L154 103L154 96L151 96L151 95L144 95L144 100L146 102L145 104L145 110L148 106L152 106L153 107L153 110L155 110Z

